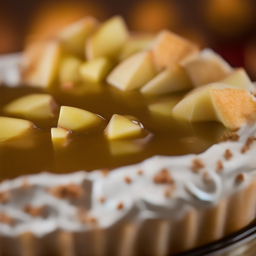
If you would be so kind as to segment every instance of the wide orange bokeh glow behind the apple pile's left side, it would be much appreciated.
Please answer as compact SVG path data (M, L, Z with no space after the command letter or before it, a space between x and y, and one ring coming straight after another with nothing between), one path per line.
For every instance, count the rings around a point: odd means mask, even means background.
M59 28L85 15L102 20L107 16L107 11L105 7L92 1L47 2L38 6L31 19L28 33L51 36Z

